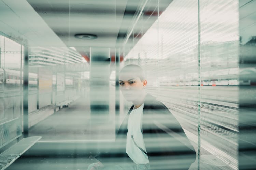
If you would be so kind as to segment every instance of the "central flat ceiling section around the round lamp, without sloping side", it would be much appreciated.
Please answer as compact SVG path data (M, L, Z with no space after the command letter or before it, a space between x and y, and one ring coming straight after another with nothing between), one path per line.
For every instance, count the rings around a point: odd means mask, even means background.
M116 47L118 36L130 29L141 4L140 0L27 1L66 46L87 55L89 47ZM84 33L97 39L75 37Z

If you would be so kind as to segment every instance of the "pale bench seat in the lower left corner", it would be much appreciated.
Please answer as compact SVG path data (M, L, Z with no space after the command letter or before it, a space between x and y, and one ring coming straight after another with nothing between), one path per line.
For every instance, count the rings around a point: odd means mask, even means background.
M18 143L2 152L0 154L0 170L10 166L16 159L18 159L41 138L41 136L23 138Z

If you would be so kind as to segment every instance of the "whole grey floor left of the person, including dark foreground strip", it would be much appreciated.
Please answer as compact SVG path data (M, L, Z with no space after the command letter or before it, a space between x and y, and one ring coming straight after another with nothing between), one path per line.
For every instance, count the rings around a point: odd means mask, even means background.
M7 169L86 170L99 146L115 138L112 117L90 115L88 99L80 98L32 126L29 136L42 139Z

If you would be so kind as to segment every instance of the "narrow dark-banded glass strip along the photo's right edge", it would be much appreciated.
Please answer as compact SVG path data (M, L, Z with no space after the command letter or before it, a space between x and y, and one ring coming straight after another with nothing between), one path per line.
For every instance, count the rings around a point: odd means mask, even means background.
M239 1L239 169L256 167L255 6L256 1Z

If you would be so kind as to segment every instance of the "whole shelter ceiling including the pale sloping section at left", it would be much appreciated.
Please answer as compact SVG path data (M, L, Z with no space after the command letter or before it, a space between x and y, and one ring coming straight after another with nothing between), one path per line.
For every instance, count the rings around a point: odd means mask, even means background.
M157 19L157 0L1 0L1 34L29 46L75 47L81 55L89 47L122 47L134 30L141 38ZM172 0L159 0L159 14ZM78 39L76 34L94 34L97 39ZM134 38L135 39L135 38ZM136 42L136 39L134 42ZM22 44L22 43L21 43Z

